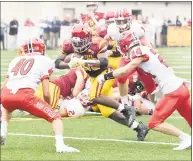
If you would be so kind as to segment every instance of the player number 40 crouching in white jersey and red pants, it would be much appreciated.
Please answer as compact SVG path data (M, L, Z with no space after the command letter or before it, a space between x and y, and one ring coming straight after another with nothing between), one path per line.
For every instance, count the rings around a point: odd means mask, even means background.
M25 55L10 62L1 90L1 145L5 144L12 112L21 109L52 123L56 152L79 152L64 144L61 116L50 106L49 76L53 72L54 63L45 56L45 44L41 39L34 38L25 42L22 48ZM39 82L42 82L45 101L34 95Z

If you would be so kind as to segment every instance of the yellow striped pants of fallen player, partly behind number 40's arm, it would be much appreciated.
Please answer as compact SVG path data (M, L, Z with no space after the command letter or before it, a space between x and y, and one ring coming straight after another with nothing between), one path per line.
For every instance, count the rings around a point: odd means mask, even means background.
M51 96L50 105L53 109L56 109L58 100L60 99L60 88L57 85L55 85L54 83L49 82L49 91L50 91L50 96ZM39 84L35 92L35 95L44 100L42 83Z

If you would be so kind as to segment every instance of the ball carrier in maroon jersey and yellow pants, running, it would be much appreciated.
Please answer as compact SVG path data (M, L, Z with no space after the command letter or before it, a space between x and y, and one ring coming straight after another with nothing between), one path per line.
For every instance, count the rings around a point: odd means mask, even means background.
M74 51L81 54L83 58L71 59L70 64L73 64L74 67L83 66L90 76L92 85L89 97L97 104L102 115L131 127L137 132L138 140L144 140L148 132L146 125L135 121L135 115L131 115L133 112L130 111L131 108L126 104L119 104L108 97L111 95L110 90L114 80L107 81L103 85L99 85L97 82L99 75L111 71L111 68L108 68L106 55L108 43L101 37L92 36L88 25L79 24L73 28L72 45ZM115 109L119 109L122 113Z

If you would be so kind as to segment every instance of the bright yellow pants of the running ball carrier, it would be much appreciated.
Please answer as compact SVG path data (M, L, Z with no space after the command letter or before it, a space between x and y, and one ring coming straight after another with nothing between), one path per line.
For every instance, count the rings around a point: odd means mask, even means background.
M111 69L107 69L105 71L103 71L101 74L105 74L110 72ZM114 84L114 79L111 80L107 80L104 84L99 85L98 81L97 81L97 77L91 77L91 91L90 91L90 99L94 99L100 96L112 96L112 86ZM114 111L115 109L107 107L107 106L103 106L100 104L97 104L97 106L93 106L92 107L93 111L98 112L100 111L101 114L104 117L109 117Z

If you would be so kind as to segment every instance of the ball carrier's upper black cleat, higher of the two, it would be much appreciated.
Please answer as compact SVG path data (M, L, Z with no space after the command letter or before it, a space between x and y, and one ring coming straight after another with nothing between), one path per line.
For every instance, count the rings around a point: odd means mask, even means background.
M133 122L135 121L135 113L136 110L133 106L128 106L127 104L124 104L124 110L122 110L121 112L123 113L123 115L126 117L127 120L127 125L129 127L131 127L131 125L133 124Z

